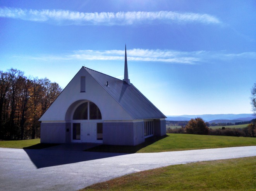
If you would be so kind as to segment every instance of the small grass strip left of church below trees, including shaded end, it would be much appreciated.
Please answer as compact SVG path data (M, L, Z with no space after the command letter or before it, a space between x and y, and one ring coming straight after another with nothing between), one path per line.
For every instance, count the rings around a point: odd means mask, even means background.
M27 139L27 140L3 140L0 141L0 147L15 148L15 149L44 149L58 144L43 144L40 139Z

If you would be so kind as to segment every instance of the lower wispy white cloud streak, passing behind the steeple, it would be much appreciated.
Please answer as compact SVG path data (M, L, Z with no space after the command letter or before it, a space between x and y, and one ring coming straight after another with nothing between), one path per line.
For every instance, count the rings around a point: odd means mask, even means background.
M92 61L123 61L124 50L78 50L63 55L29 56L29 59L50 60L92 60ZM211 52L211 51L174 51L160 49L128 49L129 61L162 62L170 64L199 64L232 59L256 59L256 52Z

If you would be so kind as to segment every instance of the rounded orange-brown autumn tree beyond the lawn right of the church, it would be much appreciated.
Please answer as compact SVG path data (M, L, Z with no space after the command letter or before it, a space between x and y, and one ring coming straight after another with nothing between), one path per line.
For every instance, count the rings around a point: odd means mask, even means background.
M188 134L208 135L209 128L205 124L204 120L200 117L191 119L186 127L185 131Z

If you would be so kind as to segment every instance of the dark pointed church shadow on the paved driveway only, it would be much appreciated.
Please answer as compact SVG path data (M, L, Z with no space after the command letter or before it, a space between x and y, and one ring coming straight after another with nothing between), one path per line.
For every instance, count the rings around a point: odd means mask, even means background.
M39 168L91 161L124 155L122 153L84 152L77 150L24 149L34 165Z

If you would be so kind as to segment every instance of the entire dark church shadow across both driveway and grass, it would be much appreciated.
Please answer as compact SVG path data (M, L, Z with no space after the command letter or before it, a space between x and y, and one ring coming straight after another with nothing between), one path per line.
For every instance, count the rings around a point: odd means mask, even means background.
M136 153L138 150L165 137L168 137L168 135L149 137L145 139L144 143L136 146L70 143L35 145L23 149L37 168L44 168ZM84 152L83 150L90 152Z

